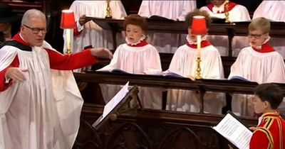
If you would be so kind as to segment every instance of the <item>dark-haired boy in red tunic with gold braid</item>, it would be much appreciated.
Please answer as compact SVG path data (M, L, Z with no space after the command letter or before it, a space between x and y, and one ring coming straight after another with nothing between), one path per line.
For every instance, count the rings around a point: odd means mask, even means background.
M285 148L285 121L276 111L283 94L276 84L260 84L254 90L254 112L262 114L250 140L250 149Z

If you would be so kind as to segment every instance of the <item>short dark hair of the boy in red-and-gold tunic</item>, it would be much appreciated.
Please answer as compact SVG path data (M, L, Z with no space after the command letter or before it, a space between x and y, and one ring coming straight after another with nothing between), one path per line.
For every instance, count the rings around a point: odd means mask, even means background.
M254 94L259 96L261 101L268 101L272 109L277 109L283 101L282 89L273 83L259 84L255 87Z

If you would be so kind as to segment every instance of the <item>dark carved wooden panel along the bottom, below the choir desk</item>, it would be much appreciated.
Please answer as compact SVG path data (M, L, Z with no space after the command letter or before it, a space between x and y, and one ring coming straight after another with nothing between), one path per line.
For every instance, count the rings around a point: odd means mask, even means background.
M210 128L222 116L144 109L137 115L122 114L96 131L88 123L93 123L102 111L102 106L86 104L83 107L81 128L74 149L228 148L227 140ZM251 118L244 118L243 121L249 126L257 123Z

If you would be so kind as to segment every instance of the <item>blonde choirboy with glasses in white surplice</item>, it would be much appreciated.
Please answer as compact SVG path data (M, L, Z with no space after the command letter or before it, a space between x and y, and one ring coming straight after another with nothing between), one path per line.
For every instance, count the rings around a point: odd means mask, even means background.
M269 45L270 22L266 18L255 18L249 24L250 47L243 48L231 67L229 79L244 77L259 84L285 82L283 57ZM234 94L232 111L237 115L253 116L252 96ZM284 104L284 103L283 103Z

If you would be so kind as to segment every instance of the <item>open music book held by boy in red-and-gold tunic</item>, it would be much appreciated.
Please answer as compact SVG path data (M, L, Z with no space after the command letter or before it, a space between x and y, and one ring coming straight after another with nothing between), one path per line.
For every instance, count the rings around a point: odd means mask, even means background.
M252 138L252 131L232 112L228 112L217 126L212 127L224 138L227 138L232 145L241 149L249 149L249 142Z

